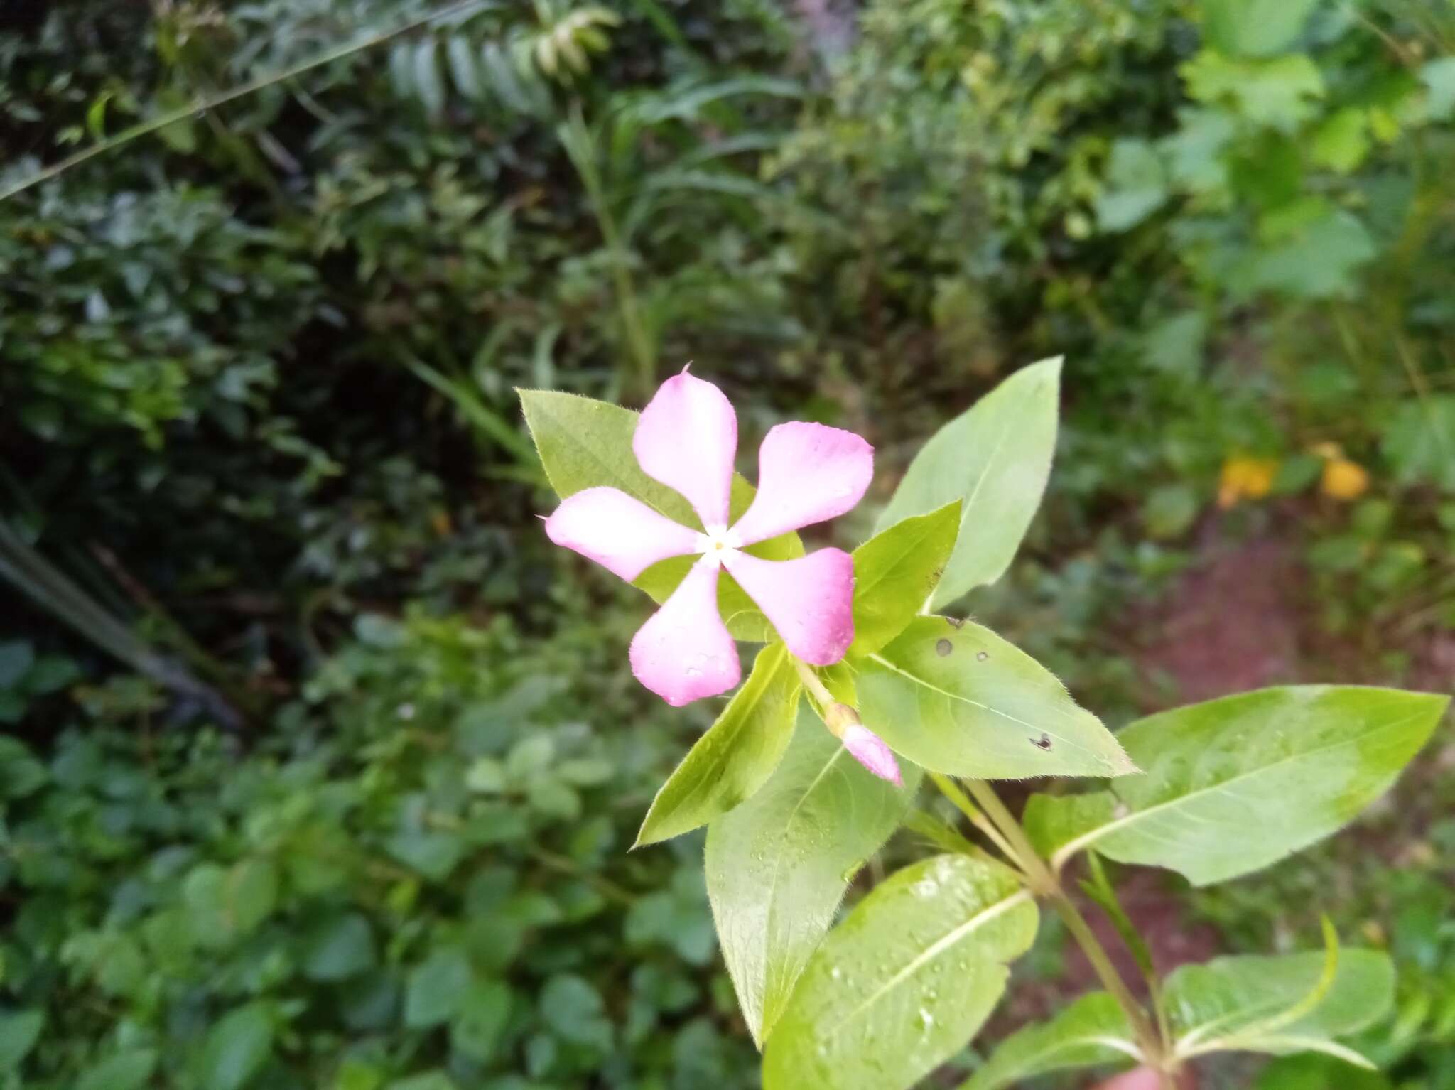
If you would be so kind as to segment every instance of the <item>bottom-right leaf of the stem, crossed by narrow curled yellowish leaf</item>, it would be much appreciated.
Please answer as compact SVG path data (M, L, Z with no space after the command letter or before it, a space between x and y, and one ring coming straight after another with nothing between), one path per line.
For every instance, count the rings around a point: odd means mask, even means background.
M1181 966L1165 987L1179 1052L1330 1051L1368 1067L1350 1049L1328 1045L1390 1011L1394 963L1378 950L1340 950L1331 981L1321 981L1327 963L1326 953L1289 953Z

